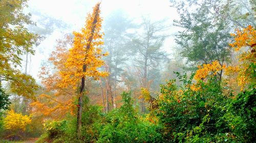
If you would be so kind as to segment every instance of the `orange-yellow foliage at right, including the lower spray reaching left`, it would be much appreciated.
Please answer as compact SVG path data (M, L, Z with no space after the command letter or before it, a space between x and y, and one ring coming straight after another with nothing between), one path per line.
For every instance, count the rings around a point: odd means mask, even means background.
M234 50L240 51L238 58L238 66L221 66L217 61L211 64L204 64L203 67L199 66L195 79L205 80L208 75L216 75L218 71L224 69L225 74L228 75L228 79L225 81L230 84L229 87L232 89L234 84L234 77L236 78L241 91L246 87L248 83L252 83L255 86L255 67L256 67L256 31L251 25L243 28L243 30L236 30L236 34L231 34L234 37L234 42L229 44ZM237 86L235 86L237 89ZM199 90L198 84L191 86L192 90ZM232 89L232 90L236 90Z

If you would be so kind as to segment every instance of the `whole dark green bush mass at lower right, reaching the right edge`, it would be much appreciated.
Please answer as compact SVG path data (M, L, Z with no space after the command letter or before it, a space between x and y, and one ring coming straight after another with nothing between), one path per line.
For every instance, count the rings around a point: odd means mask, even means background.
M201 82L193 91L193 75L179 75L161 85L161 99L154 112L163 124L166 142L253 142L255 138L255 89L240 93L237 98L223 93L215 77ZM177 97L177 92L182 93ZM179 99L177 99L179 98Z

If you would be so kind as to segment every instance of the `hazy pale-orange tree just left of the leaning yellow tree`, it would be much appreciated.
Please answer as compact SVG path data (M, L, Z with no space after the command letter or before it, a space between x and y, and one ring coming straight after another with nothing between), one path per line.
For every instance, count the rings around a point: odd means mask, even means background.
M71 35L65 35L64 39L57 40L55 50L48 59L49 63L41 67L39 78L43 85L42 91L36 101L30 104L35 117L59 120L66 117L67 113L74 115L74 99L77 96L77 90L73 87L61 87L60 74L61 71L75 70L65 67L71 47Z

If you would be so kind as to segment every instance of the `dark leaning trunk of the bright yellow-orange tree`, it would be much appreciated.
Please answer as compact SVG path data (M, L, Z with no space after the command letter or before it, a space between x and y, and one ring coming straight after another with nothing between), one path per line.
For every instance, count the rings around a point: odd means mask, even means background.
M88 51L91 47L91 43L93 40L93 35L94 35L94 31L95 31L95 27L96 27L96 23L97 23L97 16L99 14L99 5L100 3L97 4L97 9L95 11L95 15L94 19L93 19L93 24L92 24L92 29L91 29L91 35L88 39L88 43L86 46L86 50ZM84 58L85 60L87 59L87 57ZM82 67L82 71L86 72L86 67L87 65L83 65ZM86 77L82 77L81 79L81 87L80 87L80 91L79 91L79 98L78 98L78 109L77 109L77 137L80 138L81 137L81 127L82 127L82 95L83 95L83 90L84 90L84 84L85 84L85 79Z

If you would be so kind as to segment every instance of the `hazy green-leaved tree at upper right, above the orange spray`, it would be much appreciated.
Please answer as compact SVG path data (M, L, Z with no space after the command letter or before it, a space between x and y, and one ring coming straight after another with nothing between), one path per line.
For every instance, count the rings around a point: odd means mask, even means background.
M183 28L175 40L188 63L202 65L218 61L223 66L228 61L228 42L231 40L229 21L224 15L220 15L225 12L220 3L219 0L185 0L173 3L180 15L180 20L174 21L175 25ZM222 70L218 72L219 80L222 73Z

